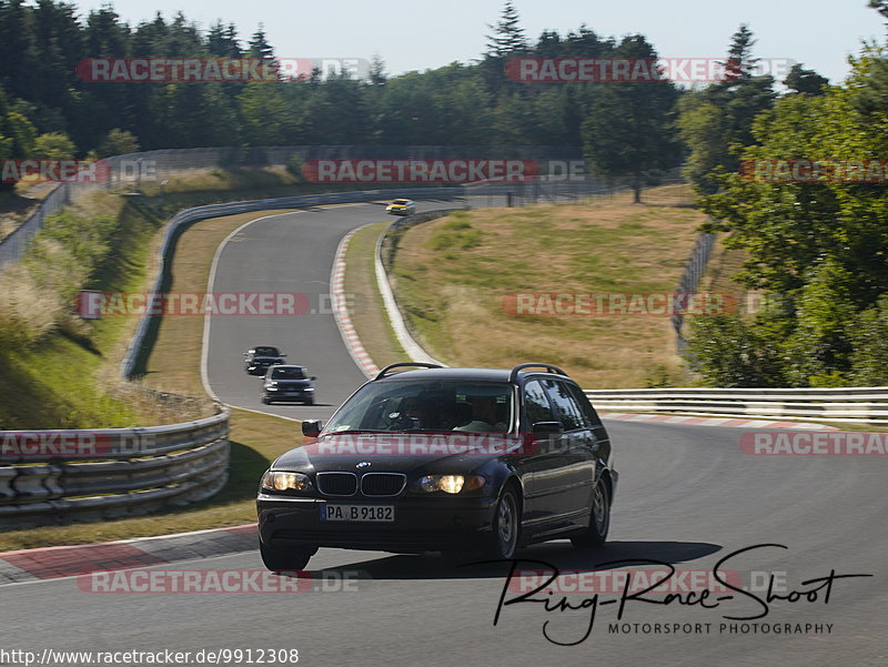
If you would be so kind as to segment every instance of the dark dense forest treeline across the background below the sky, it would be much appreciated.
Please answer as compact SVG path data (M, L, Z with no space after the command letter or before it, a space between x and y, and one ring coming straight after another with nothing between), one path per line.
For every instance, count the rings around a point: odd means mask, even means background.
M656 58L642 36L605 38L584 26L545 31L532 44L508 3L492 28L477 60L397 77L374 59L364 79L315 70L272 82L88 82L78 74L85 59L273 62L275 52L261 27L244 40L234 26L201 31L182 13L132 27L111 7L79 17L58 0L0 0L0 159L214 145L586 145L604 172L622 174L626 166L607 156L613 150L601 158L592 143L620 123L614 114L629 104L645 118L623 122L622 134L653 141L628 171L680 162L679 89L672 82L624 84L608 99L596 83L528 84L505 74L519 55Z

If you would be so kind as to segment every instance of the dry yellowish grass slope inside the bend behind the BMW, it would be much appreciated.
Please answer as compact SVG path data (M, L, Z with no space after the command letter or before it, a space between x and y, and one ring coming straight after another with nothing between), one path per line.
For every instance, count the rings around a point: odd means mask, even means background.
M668 317L514 315L503 299L672 292L704 219L628 195L456 212L405 234L392 272L398 304L420 342L452 365L546 361L591 388L686 383Z

